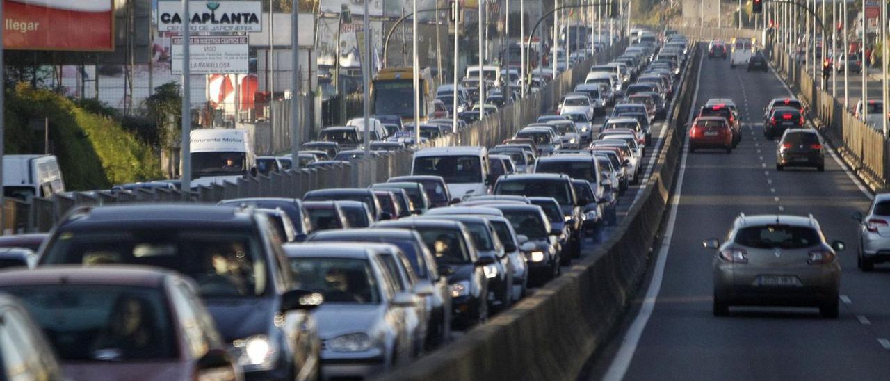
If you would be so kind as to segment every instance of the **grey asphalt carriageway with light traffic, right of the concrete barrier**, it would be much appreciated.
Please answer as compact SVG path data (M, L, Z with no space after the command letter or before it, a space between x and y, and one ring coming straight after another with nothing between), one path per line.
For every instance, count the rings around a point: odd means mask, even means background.
M775 171L775 142L763 137L766 102L789 96L768 73L702 64L695 108L708 98L732 98L743 117L743 139L732 154L684 153L663 239L648 279L619 333L592 359L583 379L890 379L890 271L856 268L857 224L850 215L870 194L834 155L825 172ZM723 238L740 213L813 216L827 239L840 239L840 317L818 310L733 307L711 311L711 250L702 239Z

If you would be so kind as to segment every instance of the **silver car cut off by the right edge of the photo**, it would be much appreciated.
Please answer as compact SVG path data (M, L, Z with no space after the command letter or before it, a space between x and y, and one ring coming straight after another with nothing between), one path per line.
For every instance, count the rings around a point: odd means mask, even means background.
M859 223L859 252L856 264L863 272L874 270L875 263L890 261L890 193L875 195L869 212L864 217L855 212Z

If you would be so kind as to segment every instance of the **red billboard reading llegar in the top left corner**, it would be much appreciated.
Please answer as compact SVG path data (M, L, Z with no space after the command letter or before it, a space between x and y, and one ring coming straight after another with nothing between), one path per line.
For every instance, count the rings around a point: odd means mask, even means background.
M4 48L114 50L113 0L2 0Z

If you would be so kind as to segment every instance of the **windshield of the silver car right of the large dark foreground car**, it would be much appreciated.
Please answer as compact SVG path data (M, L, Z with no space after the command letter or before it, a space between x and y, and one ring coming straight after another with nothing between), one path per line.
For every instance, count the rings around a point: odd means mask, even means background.
M365 259L290 258L295 288L318 292L325 303L378 304L374 272Z

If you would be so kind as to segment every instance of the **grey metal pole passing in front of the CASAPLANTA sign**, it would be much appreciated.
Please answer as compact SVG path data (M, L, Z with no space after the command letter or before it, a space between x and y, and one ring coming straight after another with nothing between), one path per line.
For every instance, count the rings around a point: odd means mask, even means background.
M191 195L190 16L189 0L182 0L182 142L180 142L182 179L180 181L180 190L182 190L183 201L188 201Z

